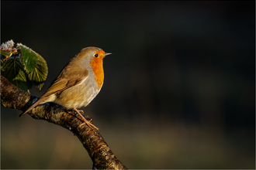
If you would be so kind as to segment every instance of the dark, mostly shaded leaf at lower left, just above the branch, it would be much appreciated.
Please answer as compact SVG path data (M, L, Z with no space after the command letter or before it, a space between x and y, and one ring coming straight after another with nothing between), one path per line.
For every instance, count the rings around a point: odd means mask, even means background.
M26 76L20 59L17 57L9 58L3 66L2 76L5 76L16 87L29 92L32 87L32 83Z

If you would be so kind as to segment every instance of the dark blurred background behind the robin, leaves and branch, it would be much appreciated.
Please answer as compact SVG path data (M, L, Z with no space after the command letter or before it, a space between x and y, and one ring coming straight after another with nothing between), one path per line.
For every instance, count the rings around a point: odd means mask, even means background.
M83 108L127 168L255 168L255 4L1 2L1 42L40 53L40 97L86 46L104 59ZM1 107L1 168L92 168L64 128Z

